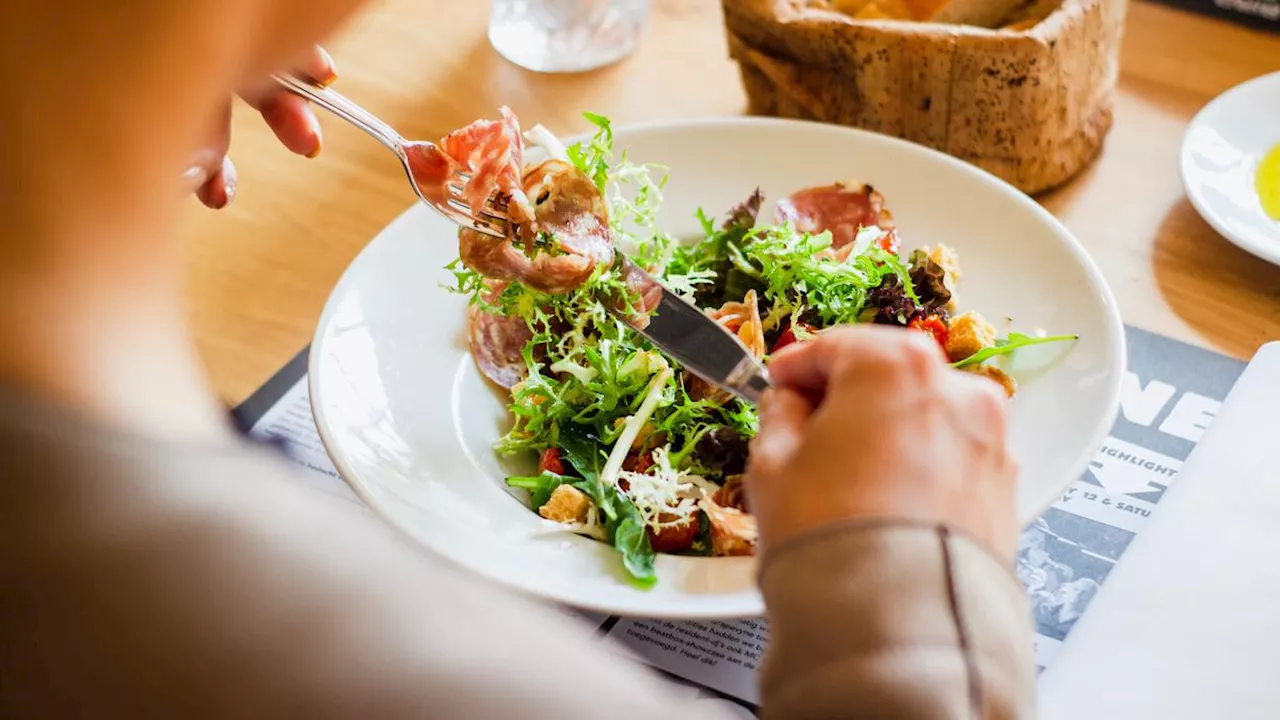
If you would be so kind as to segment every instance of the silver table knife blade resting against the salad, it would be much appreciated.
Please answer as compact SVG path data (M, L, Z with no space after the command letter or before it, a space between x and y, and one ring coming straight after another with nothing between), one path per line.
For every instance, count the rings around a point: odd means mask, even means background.
M643 307L653 309L646 315L607 302L616 316L690 373L751 405L759 402L760 393L769 387L769 374L733 333L667 290L626 255L618 252L614 263L627 287L640 293Z

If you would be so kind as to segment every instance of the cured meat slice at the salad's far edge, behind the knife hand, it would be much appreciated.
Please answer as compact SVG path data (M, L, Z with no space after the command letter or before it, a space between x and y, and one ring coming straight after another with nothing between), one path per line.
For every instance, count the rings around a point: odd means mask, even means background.
M774 211L778 223L791 223L797 231L831 231L831 246L844 247L858 236L858 228L879 225L893 229L893 217L884 209L884 196L856 181L808 187L783 197Z

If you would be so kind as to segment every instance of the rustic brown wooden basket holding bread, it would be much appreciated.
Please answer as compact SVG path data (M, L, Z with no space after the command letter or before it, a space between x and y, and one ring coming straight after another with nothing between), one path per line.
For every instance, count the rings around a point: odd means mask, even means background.
M753 114L904 137L1025 192L1068 181L1098 154L1126 3L1065 0L1030 29L1009 31L723 0Z

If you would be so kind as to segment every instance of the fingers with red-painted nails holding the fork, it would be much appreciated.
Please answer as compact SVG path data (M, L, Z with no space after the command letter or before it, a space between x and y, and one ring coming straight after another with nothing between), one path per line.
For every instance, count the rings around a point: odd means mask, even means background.
M329 85L338 78L333 59L320 46L314 46L294 72L320 85ZM289 151L307 158L320 154L320 123L306 100L274 82L247 90L241 97L262 114L268 127ZM192 155L189 167L183 173L187 190L215 210L225 208L236 197L236 165L227 155L230 123L232 99L228 97L223 111L214 118L207 141Z

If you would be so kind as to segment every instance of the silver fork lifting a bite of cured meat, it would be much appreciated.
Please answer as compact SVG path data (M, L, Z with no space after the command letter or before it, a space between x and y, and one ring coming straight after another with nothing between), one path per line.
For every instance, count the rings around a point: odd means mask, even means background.
M273 76L273 79L289 92L329 110L387 146L388 150L399 158L401 165L404 168L404 174L408 176L408 182L413 186L413 192L429 208L465 228L494 237L507 237L507 208L500 201L490 197L480 213L472 213L467 204L462 201L462 188L471 179L468 174L454 173L449 178L445 183L449 199L445 202L433 201L422 193L422 188L419 187L417 178L413 176L412 158L428 147L434 147L434 143L421 140L404 140L394 128L379 119L378 115L365 110L333 88L320 87L319 85L288 74Z

